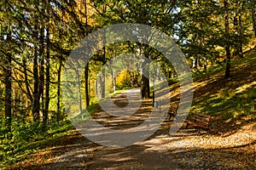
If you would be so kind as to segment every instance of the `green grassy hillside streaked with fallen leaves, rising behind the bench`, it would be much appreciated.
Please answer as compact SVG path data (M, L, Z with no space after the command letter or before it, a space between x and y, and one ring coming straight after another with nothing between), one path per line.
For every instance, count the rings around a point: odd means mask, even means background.
M234 59L231 77L224 79L224 66L194 74L194 99L191 111L214 116L212 133L235 133L256 120L256 51L244 59ZM178 83L171 86L172 101L177 103Z

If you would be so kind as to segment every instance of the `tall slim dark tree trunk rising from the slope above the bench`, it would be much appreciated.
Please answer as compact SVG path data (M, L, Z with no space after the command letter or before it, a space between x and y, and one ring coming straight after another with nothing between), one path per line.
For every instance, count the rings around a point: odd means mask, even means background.
M224 10L225 10L225 36L226 38L229 39L230 36L230 27L229 27L229 9L228 9L228 3L226 0L224 0ZM225 50L226 50L226 71L225 71L225 78L230 77L230 59L231 59L231 54L230 54L230 45L227 43L225 45Z

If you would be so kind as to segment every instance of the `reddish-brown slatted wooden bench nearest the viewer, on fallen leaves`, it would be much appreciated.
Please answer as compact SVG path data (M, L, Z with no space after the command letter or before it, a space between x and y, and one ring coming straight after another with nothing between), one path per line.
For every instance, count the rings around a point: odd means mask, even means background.
M200 134L200 129L203 130L209 130L210 127L210 121L212 119L212 116L201 114L201 113L191 113L187 120L185 121L187 123L185 128L188 128L189 125L192 127L195 127L197 131L197 135Z

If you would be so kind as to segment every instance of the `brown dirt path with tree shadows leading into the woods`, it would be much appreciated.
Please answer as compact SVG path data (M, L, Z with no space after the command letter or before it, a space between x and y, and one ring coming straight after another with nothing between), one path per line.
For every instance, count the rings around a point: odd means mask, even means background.
M115 97L114 103L119 107L127 105L127 93L137 93L129 90ZM131 102L137 102L130 100ZM103 126L113 129L126 129L138 126L145 121L151 113L151 101L143 101L140 109L132 116L114 117L108 113L100 112L96 120L102 121ZM167 132L167 131L166 131ZM127 147L98 146L95 150L90 169L177 169L178 164L167 150L167 141L164 129L159 129L153 136L138 141Z

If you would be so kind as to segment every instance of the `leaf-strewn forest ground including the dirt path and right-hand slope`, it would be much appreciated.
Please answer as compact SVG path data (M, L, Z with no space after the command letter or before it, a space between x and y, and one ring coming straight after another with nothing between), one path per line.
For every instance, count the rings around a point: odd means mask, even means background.
M256 169L256 56L247 55L232 66L229 79L224 68L194 78L191 111L212 115L211 130L196 135L193 127L170 135L166 117L148 139L131 146L108 147L85 139L72 130L55 146L45 147L7 169ZM178 83L172 84L173 105L179 99ZM125 93L115 104L127 105ZM151 102L144 100L130 119L96 111L97 122L113 129L136 127L147 119Z

